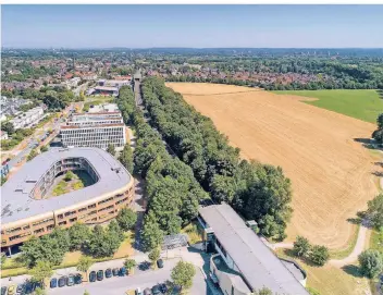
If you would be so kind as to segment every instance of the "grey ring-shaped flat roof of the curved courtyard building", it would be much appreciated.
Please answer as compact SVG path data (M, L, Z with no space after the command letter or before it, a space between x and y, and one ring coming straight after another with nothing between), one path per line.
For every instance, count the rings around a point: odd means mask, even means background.
M98 182L49 199L34 199L30 197L32 190L41 176L55 162L66 158L85 158L98 174ZM115 169L119 169L119 172ZM132 176L127 170L102 149L90 147L51 148L25 163L16 174L1 186L1 222L7 224L90 200L125 187L131 179Z

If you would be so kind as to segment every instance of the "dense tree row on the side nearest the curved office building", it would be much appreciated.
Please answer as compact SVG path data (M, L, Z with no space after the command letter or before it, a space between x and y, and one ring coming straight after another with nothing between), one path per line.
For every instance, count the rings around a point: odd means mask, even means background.
M146 179L147 214L143 226L146 249L157 247L165 234L178 233L182 225L197 216L199 200L208 195L194 177L192 169L172 158L156 132L136 109L133 91L122 87L118 99L124 121L136 131L134 170Z

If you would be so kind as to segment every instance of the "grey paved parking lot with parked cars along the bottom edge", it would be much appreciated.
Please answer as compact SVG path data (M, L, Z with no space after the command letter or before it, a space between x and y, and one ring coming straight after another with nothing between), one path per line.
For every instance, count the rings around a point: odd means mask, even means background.
M116 259L116 260L110 260L110 261L104 261L104 262L98 262L95 263L88 271L88 278L89 273L95 271L96 276L97 272L102 270L103 272L103 279L102 281L97 281L96 282L88 282L88 280L84 276L83 278L83 283L82 284L76 284L76 282L67 286L67 281L65 281L64 286L55 286L54 288L50 288L47 286L46 291L47 294L78 294L83 295L85 291L88 291L90 295L101 295L101 294L111 294L111 295L126 295L126 292L128 290L135 290L139 287L141 291L145 288L149 287L151 288L152 286L157 284L162 284L165 283L168 280L171 279L171 271L174 268L174 266L181 260L189 261L193 262L196 267L196 275L194 276L194 282L193 286L189 290L189 294L195 294L195 295L200 295L200 294L219 294L214 288L209 288L207 281L205 279L205 275L201 271L201 267L203 265L203 260L197 253L188 251L187 248L182 248L182 249L174 249L170 250L166 254L168 259L164 259L164 265L163 268L152 270L150 267L145 266L147 265L148 257L145 254L140 254L137 256L134 256L134 258L137 262L137 267L134 270L134 273L121 276L121 273L119 275L111 275L111 278L106 278L106 270L107 269L121 269L123 267L123 261L124 259ZM182 257L182 258L181 258ZM203 267L205 268L205 267ZM55 270L54 274L52 278L57 279L57 285L59 285L59 279L60 278L69 278L70 275L75 275L78 273L76 268L66 268L66 269L60 269ZM85 274L84 274L85 275ZM29 280L29 275L18 275L14 276L12 281L9 281L7 278L1 279L1 285L2 286L9 286L9 285L20 285L24 284L26 280ZM63 281L63 280L62 280ZM72 284L72 283L71 283ZM16 293L20 294L20 293ZM25 294L25 293L22 293ZM30 293L29 293L30 294Z

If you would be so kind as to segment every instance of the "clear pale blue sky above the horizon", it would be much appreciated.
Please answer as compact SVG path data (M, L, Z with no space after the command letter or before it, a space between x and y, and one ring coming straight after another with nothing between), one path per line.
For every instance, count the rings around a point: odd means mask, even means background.
M383 48L383 5L1 5L13 48Z

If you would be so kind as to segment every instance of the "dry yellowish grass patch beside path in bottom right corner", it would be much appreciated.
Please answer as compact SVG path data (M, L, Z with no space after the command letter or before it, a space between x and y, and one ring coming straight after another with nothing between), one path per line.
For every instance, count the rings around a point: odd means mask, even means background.
M321 295L365 295L370 294L369 281L359 273L356 265L343 269L331 265L314 267L295 258L288 249L277 249L277 256L295 260L307 272L307 287L317 290Z

